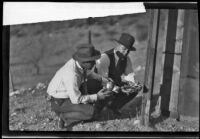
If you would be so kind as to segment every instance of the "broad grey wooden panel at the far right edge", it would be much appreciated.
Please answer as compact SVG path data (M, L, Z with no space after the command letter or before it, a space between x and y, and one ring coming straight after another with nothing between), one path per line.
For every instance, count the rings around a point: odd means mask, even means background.
M178 112L199 117L199 20L198 10L185 10Z

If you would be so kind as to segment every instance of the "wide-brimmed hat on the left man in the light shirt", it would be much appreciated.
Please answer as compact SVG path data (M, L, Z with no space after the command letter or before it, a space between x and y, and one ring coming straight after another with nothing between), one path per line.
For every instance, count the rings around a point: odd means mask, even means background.
M76 47L73 59L79 62L95 61L99 59L101 52L96 50L92 44L80 44Z

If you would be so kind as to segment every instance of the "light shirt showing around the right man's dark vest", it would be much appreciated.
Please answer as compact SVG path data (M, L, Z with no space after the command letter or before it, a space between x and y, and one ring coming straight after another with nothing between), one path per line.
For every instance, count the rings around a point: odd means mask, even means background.
M117 62L119 60L119 57L116 55L116 51L114 49L114 57L115 57L115 66L117 65ZM110 59L107 54L103 53L101 54L101 58L97 60L96 67L98 70L98 74L102 75L103 77L109 77L109 66L110 66ZM127 64L125 68L124 75L128 75L129 73L132 73L132 63L130 58L127 56Z

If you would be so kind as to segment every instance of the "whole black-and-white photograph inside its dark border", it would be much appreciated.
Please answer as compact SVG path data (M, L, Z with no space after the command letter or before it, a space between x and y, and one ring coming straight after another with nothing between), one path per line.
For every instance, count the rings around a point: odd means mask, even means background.
M9 131L199 132L197 8L3 6Z

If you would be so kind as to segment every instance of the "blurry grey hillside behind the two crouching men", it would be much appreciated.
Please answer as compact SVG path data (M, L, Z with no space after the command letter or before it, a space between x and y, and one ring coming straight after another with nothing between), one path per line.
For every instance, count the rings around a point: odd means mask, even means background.
M112 39L122 32L135 36L137 51L130 54L133 69L143 80L149 15L132 14L95 18L92 43L104 52L114 47ZM48 82L79 43L88 42L86 19L11 26L10 71L15 89ZM138 70L138 71L139 71Z

